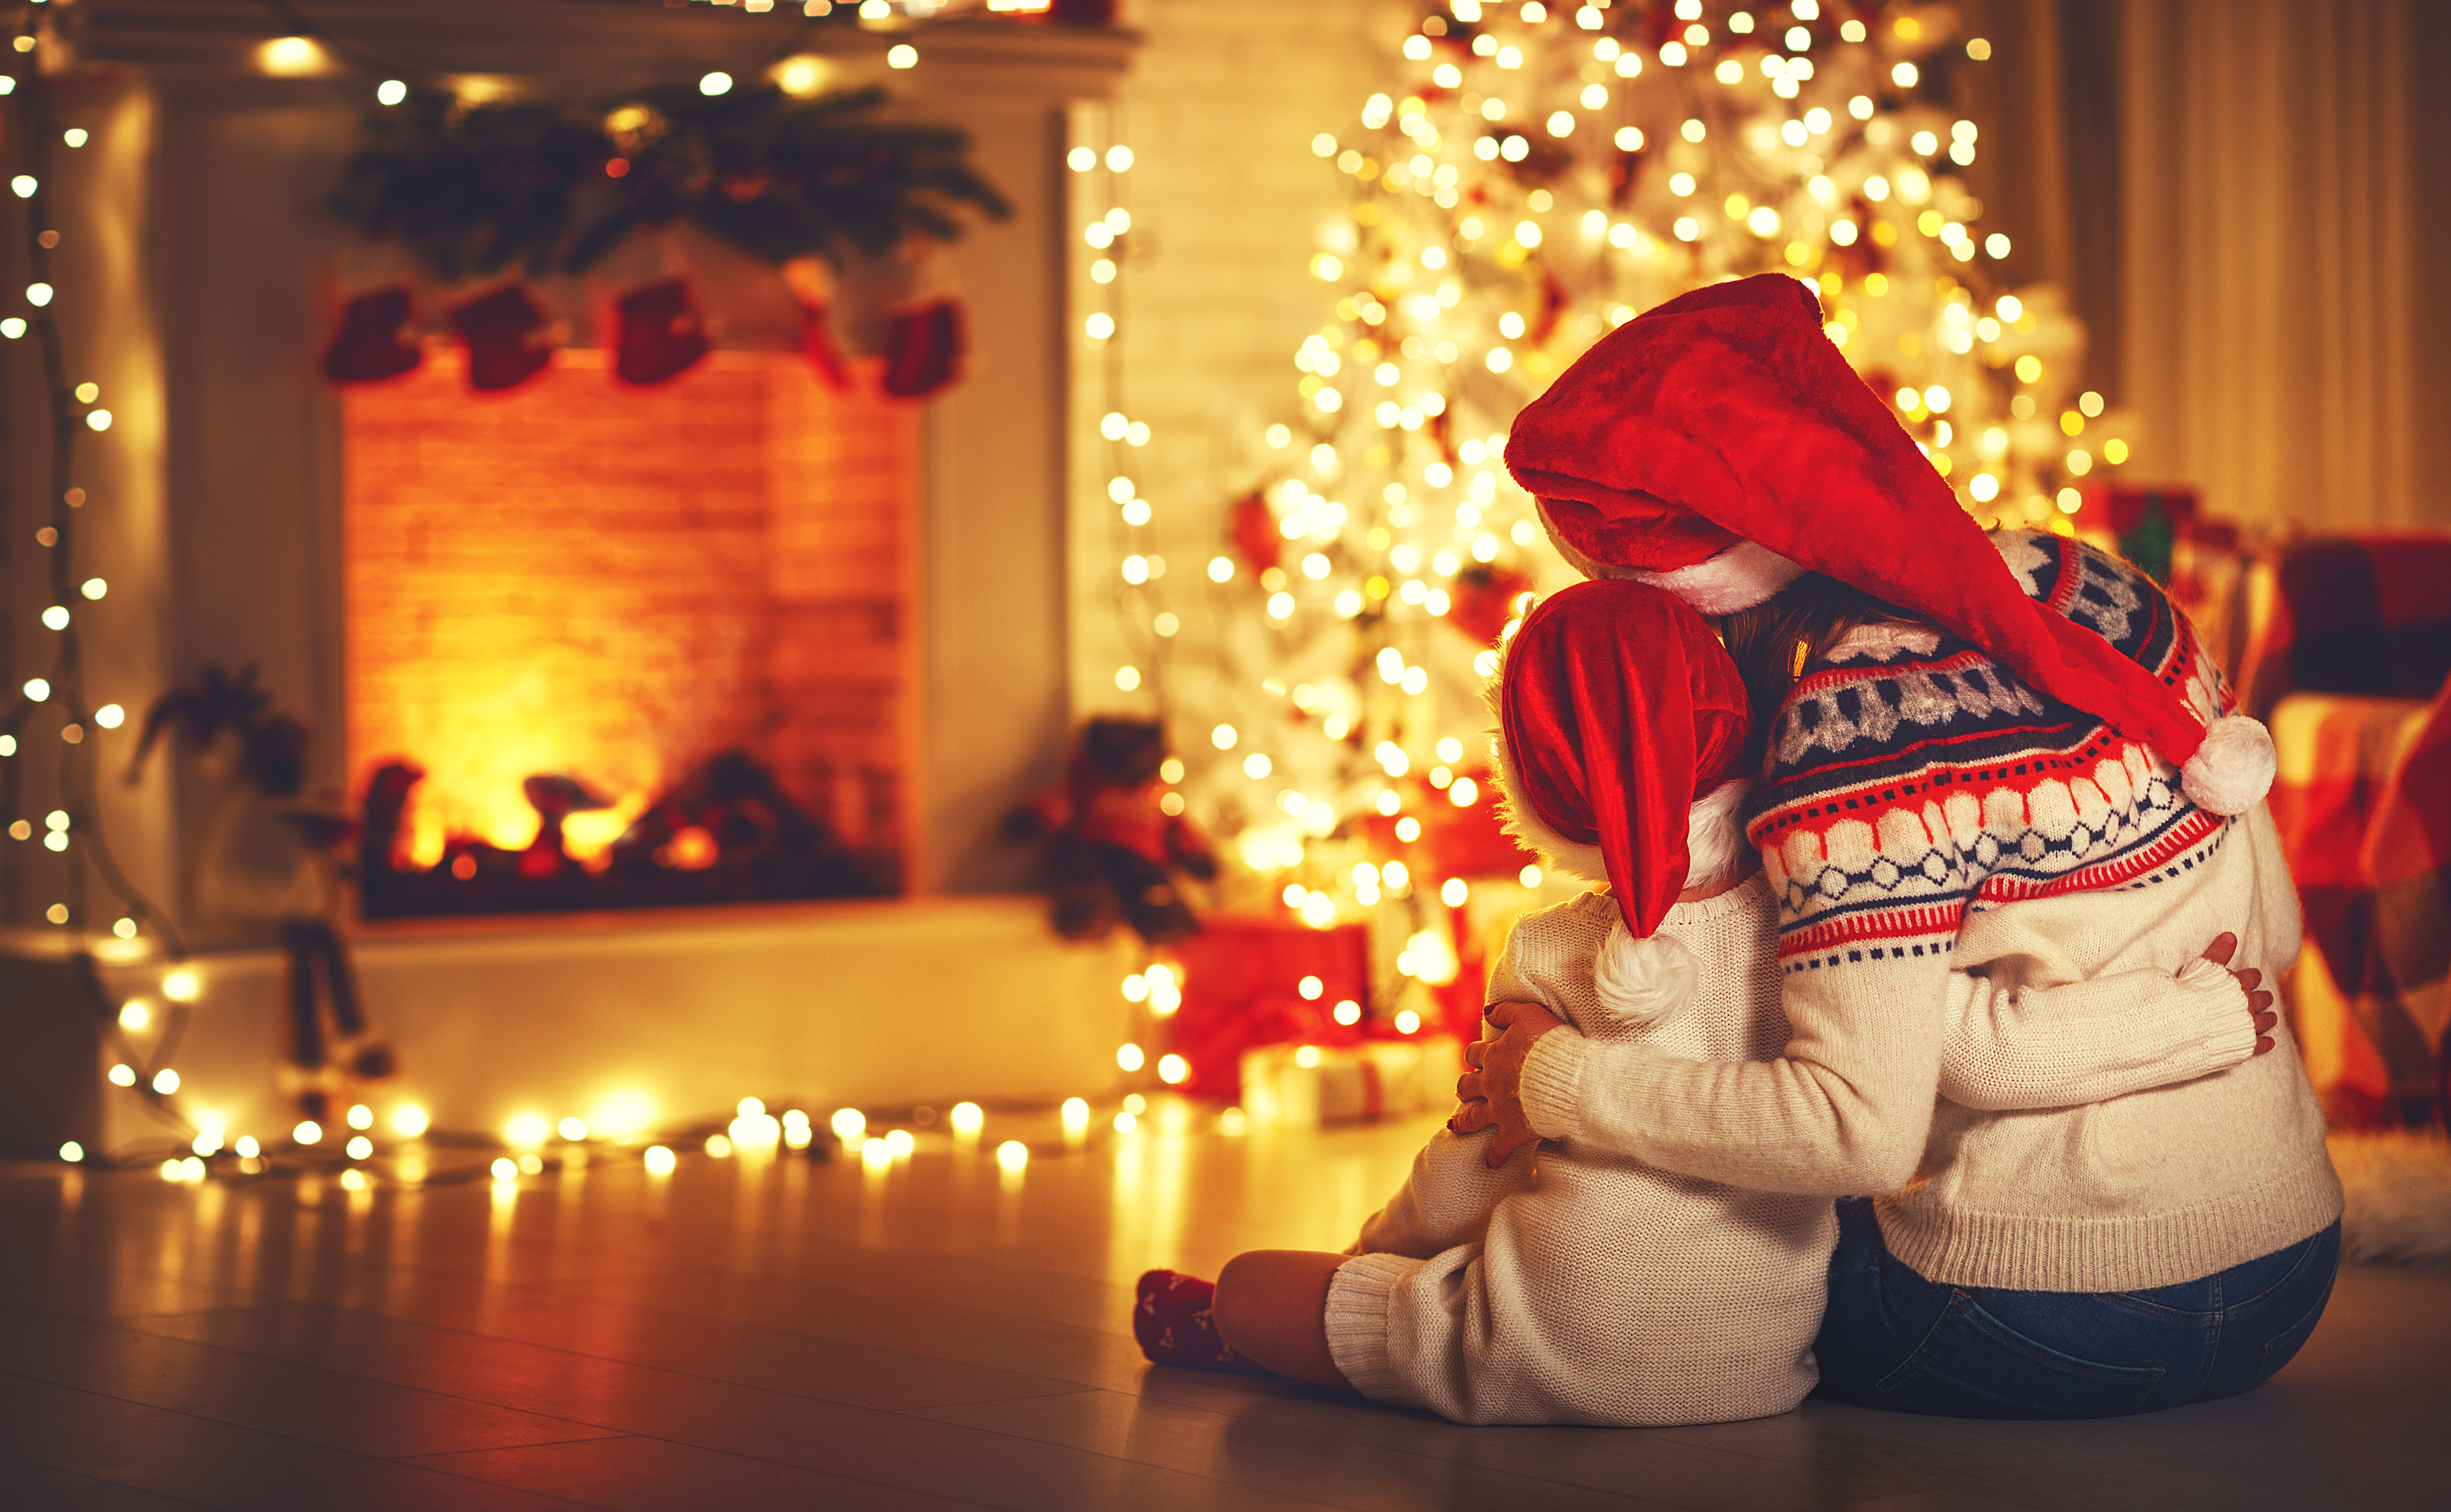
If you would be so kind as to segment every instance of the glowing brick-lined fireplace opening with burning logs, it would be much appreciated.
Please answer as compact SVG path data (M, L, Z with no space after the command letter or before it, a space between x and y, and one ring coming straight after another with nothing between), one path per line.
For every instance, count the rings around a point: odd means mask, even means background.
M463 365L341 399L365 917L900 892L917 414L797 353Z

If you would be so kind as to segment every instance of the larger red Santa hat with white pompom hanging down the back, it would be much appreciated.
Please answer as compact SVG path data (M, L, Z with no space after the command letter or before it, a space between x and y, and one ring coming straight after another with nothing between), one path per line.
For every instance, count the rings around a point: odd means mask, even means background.
M2181 762L2203 809L2243 814L2272 784L2262 725L2206 728L2184 694L2025 595L1787 274L1694 289L1601 338L1515 419L1507 471L1588 576L1726 615L1819 571Z

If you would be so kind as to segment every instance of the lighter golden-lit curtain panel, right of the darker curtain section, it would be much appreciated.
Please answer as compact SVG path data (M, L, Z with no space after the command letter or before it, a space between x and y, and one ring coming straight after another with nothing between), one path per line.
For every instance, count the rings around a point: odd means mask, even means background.
M2424 277L2441 147L2419 137L2417 10L2137 0L2120 17L2140 463L2199 483L2221 515L2451 524L2422 441L2441 421L2424 368L2444 328Z

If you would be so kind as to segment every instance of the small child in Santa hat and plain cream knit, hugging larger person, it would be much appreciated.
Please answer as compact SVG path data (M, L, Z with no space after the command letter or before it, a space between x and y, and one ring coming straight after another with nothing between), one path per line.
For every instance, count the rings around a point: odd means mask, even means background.
M1775 904L1735 823L1748 696L1701 615L1635 583L1556 593L1507 642L1493 703L1510 828L1601 885L1517 921L1493 995L1539 1000L1596 1044L1777 1056ZM2221 966L2142 975L2120 1012L2093 985L2015 1000L1963 980L1944 1093L2115 1098L2255 1054L2252 1005ZM1826 1196L1691 1181L1578 1140L1537 1164L1493 1169L1485 1152L1439 1132L1348 1255L1243 1255L1213 1304L1203 1282L1150 1272L1142 1348L1196 1365L1240 1350L1468 1424L1726 1421L1814 1387Z

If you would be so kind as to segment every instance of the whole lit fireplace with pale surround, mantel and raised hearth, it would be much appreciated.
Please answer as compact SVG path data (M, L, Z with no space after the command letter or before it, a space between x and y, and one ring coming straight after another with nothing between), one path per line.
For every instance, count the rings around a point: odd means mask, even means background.
M721 350L669 385L620 387L574 311L581 328L532 387L468 395L451 350L431 348L392 387L336 392L316 355L348 233L324 201L373 76L270 74L260 51L282 22L255 0L54 10L56 88L88 132L56 167L56 309L78 377L115 414L78 478L78 564L110 583L81 610L93 696L142 711L203 667L257 662L314 730L309 789L358 801L395 757L424 769L382 855L426 897L395 890L382 917L341 924L368 1017L400 1056L392 1095L436 1127L498 1130L615 1091L696 1115L743 1095L944 1105L1103 1088L1130 1037L1115 983L1132 963L1047 931L1044 899L1022 892L1032 855L998 823L1066 760L1078 321L1064 154L1132 37L804 29L799 7L598 0L304 7L333 56L417 78L596 98L806 47L828 88L887 83L912 118L961 125L1017 213L951 245L971 370L909 409L821 387L789 350L789 301L779 323L723 309L733 279L706 262L694 270ZM887 49L909 42L922 64L890 69ZM37 397L0 392L12 434L34 434ZM505 446L488 453L493 441ZM581 493L632 517L591 520ZM10 507L12 539L32 542L42 490ZM34 566L20 546L17 569ZM120 782L137 723L98 738L96 801L132 880L191 921L181 899L221 789L164 760ZM755 772L711 772L728 752ZM56 801L51 767L27 765L34 814ZM613 897L615 843L659 799L681 794L686 814L686 789L738 794L760 772L824 826L853 882L743 882L755 868L721 865L721 826L679 823L650 845L664 863L645 892ZM532 787L559 809L544 853ZM461 860L483 877L547 870L554 850L566 865L544 882L566 897L532 890L500 917L451 897L483 892ZM27 853L34 907L66 897L61 858ZM598 909L615 902L721 907ZM115 1051L93 1015L71 1012L86 990L71 953L88 943L115 997L159 1007L176 970L181 1098L230 1132L292 1122L275 1078L279 951L191 929L172 963L150 934L93 941L39 919L0 929L0 1007L61 1037L0 1091L69 1088L78 1110L37 1120L39 1137L0 1120L0 1144L159 1135L135 1091L103 1081Z

